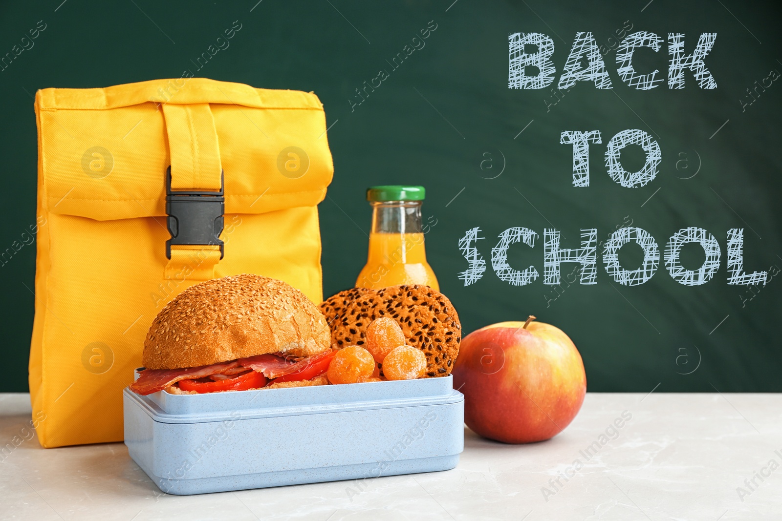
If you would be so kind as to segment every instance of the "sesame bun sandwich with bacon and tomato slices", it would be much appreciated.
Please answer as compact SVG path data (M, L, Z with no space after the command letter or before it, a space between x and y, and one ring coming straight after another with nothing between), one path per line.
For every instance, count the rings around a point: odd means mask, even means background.
M235 275L188 287L149 327L137 394L328 384L335 351L316 305L282 280Z

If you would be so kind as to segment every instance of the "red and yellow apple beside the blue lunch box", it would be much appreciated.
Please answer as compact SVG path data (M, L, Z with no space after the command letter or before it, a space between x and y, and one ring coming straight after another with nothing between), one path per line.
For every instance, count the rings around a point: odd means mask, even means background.
M461 341L454 387L465 394L465 423L483 437L547 440L581 409L587 375L579 351L534 318L482 327Z

